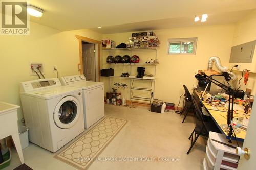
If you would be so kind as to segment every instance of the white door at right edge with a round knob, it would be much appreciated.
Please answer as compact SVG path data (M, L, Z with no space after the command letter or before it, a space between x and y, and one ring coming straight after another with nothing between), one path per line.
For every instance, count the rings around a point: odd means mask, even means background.
M239 170L244 169L255 169L256 167L256 148L255 148L255 141L256 141L256 135L255 135L255 129L256 129L256 103L254 102L251 110L251 117L250 122L248 125L248 129L246 132L246 137L243 144L243 150L245 147L247 147L250 150L250 159L246 160L243 155L240 156L240 161L238 164Z

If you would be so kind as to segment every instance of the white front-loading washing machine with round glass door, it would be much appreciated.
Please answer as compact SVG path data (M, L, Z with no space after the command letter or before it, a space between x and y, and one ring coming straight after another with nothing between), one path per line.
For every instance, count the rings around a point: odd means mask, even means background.
M29 141L56 152L84 131L82 90L58 78L20 83Z

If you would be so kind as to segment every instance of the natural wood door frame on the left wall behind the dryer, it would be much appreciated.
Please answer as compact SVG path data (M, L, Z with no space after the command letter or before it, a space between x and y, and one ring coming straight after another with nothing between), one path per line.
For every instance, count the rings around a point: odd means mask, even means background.
M95 61L97 63L96 66L98 67L98 74L96 74L96 81L100 81L100 43L101 42L91 39L91 38L88 38L88 37L83 37L80 35L76 35L76 38L78 39L78 44L79 44L79 61L80 61L80 63L77 64L78 71L80 71L80 74L83 74L82 41L94 44L95 51L96 51L95 52ZM96 57L96 56L98 56L98 57Z

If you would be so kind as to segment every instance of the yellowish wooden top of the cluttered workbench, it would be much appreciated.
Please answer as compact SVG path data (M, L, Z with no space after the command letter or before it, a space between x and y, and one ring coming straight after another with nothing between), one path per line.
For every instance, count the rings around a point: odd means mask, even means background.
M222 124L225 124L225 125L227 124L227 110L225 110L224 107L212 107L207 102L204 102L204 101L201 101L201 103L206 108L210 117L212 118L212 120L214 120L215 124L218 126L222 134L226 135L226 138L228 138L228 132L224 131L221 128ZM246 115L245 117L244 111L236 111L236 114L233 114L233 118L239 118L239 117L244 117L244 118L247 117L249 119L250 114L248 113L248 115ZM244 141L246 131L242 130L241 128L239 128L239 130L240 130L240 133L236 133L237 140Z

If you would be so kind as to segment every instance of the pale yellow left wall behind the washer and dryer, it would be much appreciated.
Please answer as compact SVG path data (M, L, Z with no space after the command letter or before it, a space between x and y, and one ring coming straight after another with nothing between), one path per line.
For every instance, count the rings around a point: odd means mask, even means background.
M78 74L78 40L75 34L101 40L101 34L90 30L59 30L30 23L29 36L0 36L0 101L20 105L19 83L37 79L30 76L30 62L43 62L47 78ZM22 118L18 110L18 119ZM20 123L20 121L19 121Z

